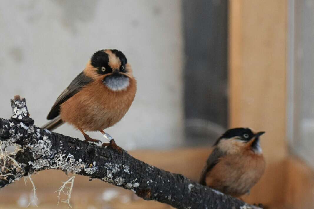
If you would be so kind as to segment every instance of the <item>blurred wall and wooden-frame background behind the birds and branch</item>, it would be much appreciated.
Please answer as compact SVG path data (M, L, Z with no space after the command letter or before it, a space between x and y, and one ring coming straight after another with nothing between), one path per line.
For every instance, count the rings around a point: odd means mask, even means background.
M3 1L0 117L11 117L9 99L19 94L35 123L45 124L91 55L119 49L138 91L122 121L106 130L118 145L198 180L211 145L227 128L266 131L267 169L243 199L268 208L314 208L313 11L313 0ZM69 125L55 131L83 139ZM32 176L38 208L57 207L54 191L68 175ZM31 189L23 180L2 189L0 208L27 206ZM71 205L170 208L81 176Z

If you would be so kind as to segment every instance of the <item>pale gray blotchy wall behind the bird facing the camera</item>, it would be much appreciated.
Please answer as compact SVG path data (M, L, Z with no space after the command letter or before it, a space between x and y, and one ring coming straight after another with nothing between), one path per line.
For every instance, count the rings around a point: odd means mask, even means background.
M122 50L138 91L122 121L106 131L126 149L178 146L182 136L182 23L179 0L2 1L0 117L26 97L38 126L100 49ZM69 125L56 132L83 139ZM100 133L89 133L102 139Z

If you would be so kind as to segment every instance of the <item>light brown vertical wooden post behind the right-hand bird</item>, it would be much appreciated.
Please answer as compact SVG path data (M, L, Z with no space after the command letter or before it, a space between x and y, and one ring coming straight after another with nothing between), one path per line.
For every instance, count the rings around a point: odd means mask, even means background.
M286 0L232 0L229 13L230 127L266 131L266 172L249 202L284 202L286 186Z

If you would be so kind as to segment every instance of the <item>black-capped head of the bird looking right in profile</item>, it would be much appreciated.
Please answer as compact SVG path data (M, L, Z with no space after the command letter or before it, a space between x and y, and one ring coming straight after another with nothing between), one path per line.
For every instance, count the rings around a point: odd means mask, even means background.
M227 130L214 144L229 153L252 150L261 153L259 137L265 132L254 132L250 128L232 128Z

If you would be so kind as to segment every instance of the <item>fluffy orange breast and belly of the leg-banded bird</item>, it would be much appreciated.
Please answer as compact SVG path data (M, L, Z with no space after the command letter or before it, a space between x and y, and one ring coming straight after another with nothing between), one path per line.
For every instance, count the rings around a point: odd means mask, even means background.
M136 80L129 78L125 90L112 91L97 79L61 104L60 116L84 131L99 131L119 122L130 108L136 93Z

